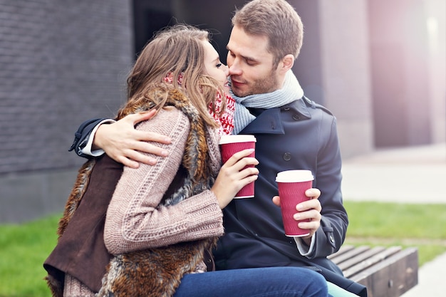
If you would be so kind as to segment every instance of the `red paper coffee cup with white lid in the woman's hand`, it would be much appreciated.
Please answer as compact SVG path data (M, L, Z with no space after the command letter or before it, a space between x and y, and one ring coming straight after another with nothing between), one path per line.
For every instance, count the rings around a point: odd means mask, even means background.
M232 155L234 155L236 152L250 148L256 148L256 137L254 137L254 135L222 135L222 138L220 139L220 150L222 152L223 163L232 157ZM252 152L249 157L255 157L255 152ZM234 198L252 197L254 197L254 182L251 182L240 189Z

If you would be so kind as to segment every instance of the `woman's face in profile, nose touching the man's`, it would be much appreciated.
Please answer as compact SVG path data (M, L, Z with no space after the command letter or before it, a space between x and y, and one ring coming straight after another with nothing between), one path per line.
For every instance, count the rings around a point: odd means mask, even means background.
M215 51L214 46L212 46L209 41L202 42L204 44L204 67L206 68L207 75L210 75L218 80L219 83L222 84L224 91L229 93L229 70L227 66L220 62L220 57L217 51Z

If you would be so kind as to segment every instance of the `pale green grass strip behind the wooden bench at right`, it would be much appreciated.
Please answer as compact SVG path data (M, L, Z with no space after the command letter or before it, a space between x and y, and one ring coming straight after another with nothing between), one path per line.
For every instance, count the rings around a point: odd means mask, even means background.
M446 252L446 204L345 202L345 244L416 246L420 266Z

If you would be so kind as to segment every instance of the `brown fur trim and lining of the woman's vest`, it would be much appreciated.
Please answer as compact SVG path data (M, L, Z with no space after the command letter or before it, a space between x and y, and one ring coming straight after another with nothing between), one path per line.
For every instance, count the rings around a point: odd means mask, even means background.
M178 180L180 176L182 181L176 189L170 189L170 193L161 202L164 205L177 204L204 189L209 189L217 173L209 164L206 125L198 116L197 110L187 97L177 90L169 90L168 104L187 115L191 130L182 159L184 170L180 170L184 174L179 172L175 177ZM142 101L139 106L128 110L128 113L150 108L150 103ZM75 187L68 197L65 212L59 222L59 239L83 198L94 165L94 160L88 161L79 171ZM216 242L217 238L209 238L114 256L107 266L103 286L97 296L172 296L180 285L182 276L195 271L204 259L204 251ZM61 296L63 283L51 277L48 277L47 281L53 296Z

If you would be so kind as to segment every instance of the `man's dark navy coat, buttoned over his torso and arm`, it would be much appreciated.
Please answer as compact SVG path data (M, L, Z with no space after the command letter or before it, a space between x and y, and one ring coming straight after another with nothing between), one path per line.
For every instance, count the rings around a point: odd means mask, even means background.
M240 132L256 137L259 178L255 197L234 199L224 209L225 235L214 256L218 269L308 266L328 281L366 296L365 287L342 276L326 256L343 244L348 217L342 204L341 152L336 118L307 98L281 108L250 109L256 119ZM271 201L278 195L277 172L311 170L321 190L321 227L311 255L301 256L293 238L284 235L281 212Z

